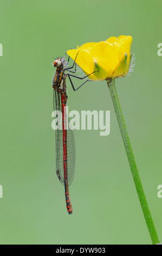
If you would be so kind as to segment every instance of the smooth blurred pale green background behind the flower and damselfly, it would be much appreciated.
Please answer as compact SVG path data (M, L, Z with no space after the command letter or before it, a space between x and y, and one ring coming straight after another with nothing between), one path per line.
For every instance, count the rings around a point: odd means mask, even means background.
M135 160L162 241L161 8L158 1L1 1L1 244L151 243L106 82L73 92L70 110L110 110L111 133L75 130L69 216L55 173L53 57L132 35L135 69L116 80Z

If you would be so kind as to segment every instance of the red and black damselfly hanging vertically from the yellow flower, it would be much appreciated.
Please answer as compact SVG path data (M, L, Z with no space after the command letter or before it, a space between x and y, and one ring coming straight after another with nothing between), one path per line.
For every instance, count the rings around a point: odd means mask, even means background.
M79 52L78 52L79 53ZM77 53L77 54L78 54ZM57 126L61 125L61 129L56 129L56 174L60 182L64 185L65 197L66 197L66 207L69 214L73 213L72 203L69 196L69 185L72 184L74 178L74 169L75 169L75 143L74 143L74 133L73 130L69 127L69 122L66 117L66 103L67 103L67 90L66 90L66 78L69 78L70 83L72 84L73 90L76 91L83 84L90 80L86 80L78 88L75 89L73 82L70 77L76 77L81 80L88 77L79 77L69 73L64 73L65 71L76 73L76 63L74 60L73 65L70 68L65 68L68 65L68 62L64 58L57 58L54 61L54 67L56 68L56 73L53 79L53 88L54 88L54 111L60 111L62 117L57 120ZM72 69L74 68L73 71Z

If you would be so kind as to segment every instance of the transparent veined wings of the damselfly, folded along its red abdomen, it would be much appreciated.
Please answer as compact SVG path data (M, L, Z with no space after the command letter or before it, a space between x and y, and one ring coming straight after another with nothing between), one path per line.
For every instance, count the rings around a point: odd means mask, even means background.
M62 112L61 94L54 90L54 110ZM68 122L69 123L69 122ZM62 116L57 115L56 125L62 128ZM63 170L63 132L62 129L55 131L56 137L56 174L60 182L64 185ZM73 130L68 127L67 130L67 172L68 185L72 184L75 170L75 139Z

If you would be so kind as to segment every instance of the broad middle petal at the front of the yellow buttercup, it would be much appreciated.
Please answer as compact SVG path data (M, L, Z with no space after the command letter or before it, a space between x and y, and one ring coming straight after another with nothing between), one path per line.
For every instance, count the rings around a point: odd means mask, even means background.
M98 42L90 51L90 55L99 58L102 66L108 66L114 70L119 63L119 45L116 43L112 45L107 41Z

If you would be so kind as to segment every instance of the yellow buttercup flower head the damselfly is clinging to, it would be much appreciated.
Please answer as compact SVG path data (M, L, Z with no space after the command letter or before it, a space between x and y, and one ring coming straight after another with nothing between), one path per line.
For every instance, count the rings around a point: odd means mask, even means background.
M90 80L99 81L124 77L131 60L132 36L112 36L106 41L88 42L77 49L67 51ZM77 57L76 57L77 55ZM76 58L76 59L75 59Z

